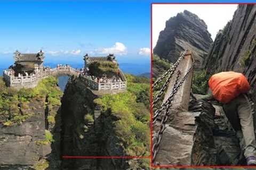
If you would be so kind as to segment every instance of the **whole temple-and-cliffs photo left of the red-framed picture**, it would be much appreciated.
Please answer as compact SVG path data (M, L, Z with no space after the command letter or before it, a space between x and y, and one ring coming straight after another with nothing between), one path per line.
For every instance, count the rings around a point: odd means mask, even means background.
M0 16L0 169L149 170L150 3L3 0Z

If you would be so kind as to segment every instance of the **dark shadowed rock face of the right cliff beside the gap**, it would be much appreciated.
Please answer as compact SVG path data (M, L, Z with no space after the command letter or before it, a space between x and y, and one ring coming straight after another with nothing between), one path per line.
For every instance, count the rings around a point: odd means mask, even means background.
M95 92L95 91L94 91ZM122 147L111 132L110 112L99 114L93 102L99 95L81 78L69 79L62 98L62 156L122 156ZM94 113L97 113L94 115ZM86 115L92 115L88 120ZM125 169L123 159L63 159L62 169Z

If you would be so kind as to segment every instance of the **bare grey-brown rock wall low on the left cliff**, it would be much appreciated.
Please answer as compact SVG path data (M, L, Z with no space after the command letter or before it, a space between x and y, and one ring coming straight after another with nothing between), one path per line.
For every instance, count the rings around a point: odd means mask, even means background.
M0 166L5 165L6 169L12 169L17 165L33 166L40 158L49 154L49 145L36 143L45 139L44 103L37 101L30 103L29 107L34 109L35 115L22 124L0 124Z

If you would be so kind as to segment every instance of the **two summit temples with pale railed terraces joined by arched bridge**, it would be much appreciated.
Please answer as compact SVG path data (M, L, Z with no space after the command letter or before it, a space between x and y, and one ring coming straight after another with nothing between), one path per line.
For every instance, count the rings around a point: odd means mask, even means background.
M16 89L34 88L38 82L49 76L59 77L61 75L81 77L87 87L92 90L123 90L126 89L126 78L123 72L117 70L116 77L111 79L107 77L94 77L89 75L88 65L91 62L109 62L116 63L115 56L109 54L105 57L84 56L84 69L74 69L69 65L57 65L55 68L44 67L44 53L42 50L38 53L21 54L18 50L14 53L14 66L4 70L3 77L8 87ZM17 75L18 74L18 75Z

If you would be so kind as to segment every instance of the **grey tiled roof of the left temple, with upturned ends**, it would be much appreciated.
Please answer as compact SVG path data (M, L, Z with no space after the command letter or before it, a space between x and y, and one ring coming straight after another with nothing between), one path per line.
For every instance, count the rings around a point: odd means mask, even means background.
M15 62L42 62L44 53L42 50L39 53L21 54L18 51L14 53Z

